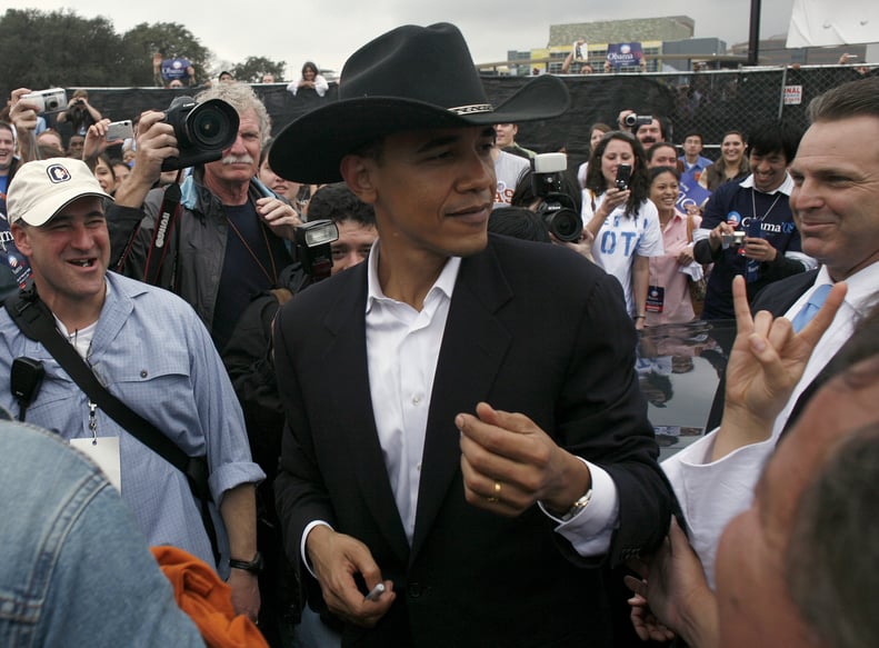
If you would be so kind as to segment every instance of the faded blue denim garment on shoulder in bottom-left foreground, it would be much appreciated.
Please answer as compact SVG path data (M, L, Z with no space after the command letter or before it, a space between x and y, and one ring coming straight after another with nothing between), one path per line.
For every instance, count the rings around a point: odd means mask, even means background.
M204 646L100 469L9 420L0 548L0 646Z

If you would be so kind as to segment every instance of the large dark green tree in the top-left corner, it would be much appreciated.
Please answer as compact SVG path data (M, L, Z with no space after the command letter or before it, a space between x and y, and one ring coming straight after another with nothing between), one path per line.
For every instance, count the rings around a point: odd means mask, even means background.
M106 18L8 9L0 18L0 92L127 84L121 54L122 41Z

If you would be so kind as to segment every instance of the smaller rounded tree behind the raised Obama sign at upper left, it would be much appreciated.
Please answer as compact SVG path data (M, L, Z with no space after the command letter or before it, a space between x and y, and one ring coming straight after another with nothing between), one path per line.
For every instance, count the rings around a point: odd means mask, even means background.
M123 62L133 82L131 86L152 86L152 54L166 59L183 58L196 68L196 80L208 78L211 53L186 27L176 22L141 22L122 36Z

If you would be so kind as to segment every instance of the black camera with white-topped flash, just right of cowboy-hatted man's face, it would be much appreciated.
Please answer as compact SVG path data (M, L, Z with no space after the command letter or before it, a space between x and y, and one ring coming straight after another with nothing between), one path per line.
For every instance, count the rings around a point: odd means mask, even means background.
M531 189L541 199L537 213L549 232L560 241L579 241L583 222L573 198L562 190L562 173L568 169L565 153L542 153L531 158Z

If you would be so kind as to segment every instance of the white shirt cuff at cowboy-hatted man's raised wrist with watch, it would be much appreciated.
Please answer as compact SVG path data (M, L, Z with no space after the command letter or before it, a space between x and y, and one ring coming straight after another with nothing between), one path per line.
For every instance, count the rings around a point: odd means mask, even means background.
M617 485L603 468L578 457L586 463L592 478L592 497L589 504L570 520L562 521L538 502L547 517L559 522L556 532L567 539L575 551L585 558L601 556L610 548L613 529L619 519L620 498Z

